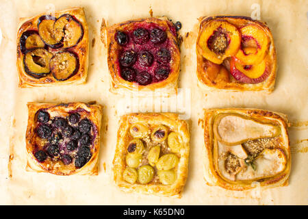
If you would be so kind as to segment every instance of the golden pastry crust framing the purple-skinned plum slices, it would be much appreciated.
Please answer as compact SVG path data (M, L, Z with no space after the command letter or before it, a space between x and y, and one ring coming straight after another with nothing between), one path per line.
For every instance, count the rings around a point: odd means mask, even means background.
M42 13L37 16L32 16L29 18L20 18L18 24L18 32L17 32L17 71L18 71L18 78L19 84L18 86L21 88L33 88L33 87L42 87L42 86L58 86L64 84L81 84L86 82L86 77L88 75L88 24L86 22L86 16L84 14L83 8L68 8L66 10L61 10L54 12L51 14L55 16L55 18L59 18L62 14L70 14L74 18L79 21L82 25L84 35L82 39L77 43L75 47L70 47L68 49L49 49L53 55L59 51L70 51L77 55L79 60L79 70L73 76L64 81L58 81L53 77L51 73L47 75L47 77L41 77L39 79L35 77L31 77L25 72L25 66L23 63L23 59L25 54L21 52L20 48L20 39L22 34L27 30L38 30L38 18L42 15L47 15L47 13Z

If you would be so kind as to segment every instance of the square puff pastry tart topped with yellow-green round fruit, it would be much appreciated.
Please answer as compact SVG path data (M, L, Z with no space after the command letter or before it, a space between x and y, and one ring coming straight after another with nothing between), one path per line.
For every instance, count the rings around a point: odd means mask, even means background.
M188 175L188 123L177 114L128 114L120 119L114 181L125 192L181 197Z

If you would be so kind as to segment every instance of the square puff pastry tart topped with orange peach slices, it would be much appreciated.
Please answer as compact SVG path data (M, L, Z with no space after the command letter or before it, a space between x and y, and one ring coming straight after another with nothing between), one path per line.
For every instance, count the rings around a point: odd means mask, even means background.
M270 29L246 16L199 18L198 84L207 90L272 92L276 51Z

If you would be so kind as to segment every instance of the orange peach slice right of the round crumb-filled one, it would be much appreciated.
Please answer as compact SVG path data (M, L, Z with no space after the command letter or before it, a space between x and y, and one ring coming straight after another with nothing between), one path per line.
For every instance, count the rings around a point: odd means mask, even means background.
M258 25L246 25L240 29L242 44L235 55L242 64L259 64L268 49L268 36Z

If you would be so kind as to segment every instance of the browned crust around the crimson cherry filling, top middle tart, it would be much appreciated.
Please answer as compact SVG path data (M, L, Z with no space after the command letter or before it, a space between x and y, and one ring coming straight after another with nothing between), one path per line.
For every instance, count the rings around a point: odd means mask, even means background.
M170 47L168 47L171 55L170 60L170 74L167 79L156 83L150 83L149 85L142 86L138 83L133 83L126 81L120 77L120 65L118 63L119 50L121 46L114 39L114 34L116 31L130 31L138 25L143 23L153 23L166 31L167 39L170 40ZM162 95L170 95L177 93L177 81L179 77L179 68L180 68L180 51L179 51L179 42L177 38L177 31L171 21L167 17L151 17L151 18L142 18L135 19L130 21L125 21L123 23L117 23L105 29L105 26L102 25L101 32L107 31L107 62L108 68L110 70L111 76L111 91L115 93L125 93L129 90L134 94L139 95L149 95L149 92L159 92ZM104 36L104 34L101 34ZM101 39L105 42L105 39Z

